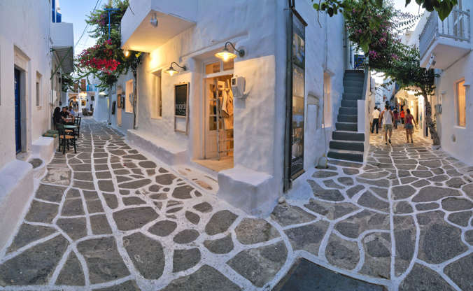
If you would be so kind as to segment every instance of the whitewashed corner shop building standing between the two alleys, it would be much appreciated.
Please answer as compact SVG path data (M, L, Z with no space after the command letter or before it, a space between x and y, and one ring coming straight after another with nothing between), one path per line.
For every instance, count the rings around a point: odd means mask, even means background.
M270 211L327 154L353 68L343 17L318 19L305 0L129 6L122 48L145 54L137 83L121 76L102 102L108 121L157 159L207 173L231 204ZM233 58L216 57L224 48Z

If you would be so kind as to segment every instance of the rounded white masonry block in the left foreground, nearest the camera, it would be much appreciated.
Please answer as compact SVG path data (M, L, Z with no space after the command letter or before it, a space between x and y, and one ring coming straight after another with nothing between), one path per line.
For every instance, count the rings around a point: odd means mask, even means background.
M0 169L0 250L13 237L33 190L33 166L29 162L14 159Z

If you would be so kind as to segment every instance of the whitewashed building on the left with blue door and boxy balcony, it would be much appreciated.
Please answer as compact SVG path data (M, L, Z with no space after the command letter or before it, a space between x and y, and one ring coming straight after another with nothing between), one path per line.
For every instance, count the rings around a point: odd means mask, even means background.
M60 22L52 0L0 1L0 248L33 194L31 158L55 150L52 111L60 74L73 70L72 24ZM60 66L59 66L60 64Z

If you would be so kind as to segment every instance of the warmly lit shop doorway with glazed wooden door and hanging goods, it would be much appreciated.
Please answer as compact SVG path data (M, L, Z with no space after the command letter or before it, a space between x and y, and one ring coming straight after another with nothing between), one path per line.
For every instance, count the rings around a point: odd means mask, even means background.
M213 66L210 72L209 65ZM228 64L224 65L221 62L206 65L206 72L211 73L211 78L204 78L204 159L195 161L217 172L234 166L234 106L230 86L233 72L230 69L223 70L228 67Z

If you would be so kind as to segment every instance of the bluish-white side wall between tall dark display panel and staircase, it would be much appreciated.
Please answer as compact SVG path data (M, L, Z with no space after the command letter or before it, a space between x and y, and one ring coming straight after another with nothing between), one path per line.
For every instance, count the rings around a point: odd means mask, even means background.
M318 159L327 153L328 144L332 139L332 131L334 131L337 122L341 97L344 92L344 22L340 15L325 17L325 13L320 13L320 27L317 13L309 1L296 1L296 9L308 23L306 27L306 125L304 134L304 169L307 170L316 165ZM327 40L327 45L325 45L325 40ZM323 104L324 72L329 73L331 77L330 104ZM320 100L318 125L316 126L308 122L308 113L313 109L307 106L308 94L318 97ZM325 129L321 127L324 106L330 106L332 113L331 122L327 122Z

